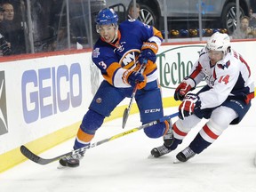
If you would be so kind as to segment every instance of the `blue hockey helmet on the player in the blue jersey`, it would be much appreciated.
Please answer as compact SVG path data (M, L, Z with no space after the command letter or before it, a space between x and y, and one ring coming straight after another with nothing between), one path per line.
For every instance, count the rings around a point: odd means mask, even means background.
M108 25L108 24L114 24L114 26L116 26L117 21L118 21L118 15L113 9L109 9L109 8L102 9L96 17L96 24L98 26Z

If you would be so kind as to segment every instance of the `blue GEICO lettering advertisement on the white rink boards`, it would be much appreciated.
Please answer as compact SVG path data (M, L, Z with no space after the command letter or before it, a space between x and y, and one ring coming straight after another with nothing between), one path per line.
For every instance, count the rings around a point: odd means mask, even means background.
M25 122L30 124L79 107L82 92L82 70L78 62L24 71L21 76L21 99Z

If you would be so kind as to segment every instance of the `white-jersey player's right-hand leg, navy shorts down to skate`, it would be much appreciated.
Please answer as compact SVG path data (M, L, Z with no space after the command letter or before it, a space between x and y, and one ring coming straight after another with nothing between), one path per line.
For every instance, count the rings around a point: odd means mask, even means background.
M249 108L251 108L251 101L247 104L244 100L236 100L234 98L225 100L222 106L212 111L209 122L204 125L188 148L185 148L176 156L177 159L186 162L192 156L200 154L214 140L219 138L220 134L228 128L229 124L239 124Z

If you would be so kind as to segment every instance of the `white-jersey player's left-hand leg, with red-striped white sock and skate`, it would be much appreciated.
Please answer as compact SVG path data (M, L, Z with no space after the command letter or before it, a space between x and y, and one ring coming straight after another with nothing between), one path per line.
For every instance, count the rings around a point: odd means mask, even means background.
M187 136L188 132L201 121L195 115L188 116L184 120L177 120L172 125L173 139L171 145L164 140L164 144L151 150L151 155L154 157L164 156L178 147L182 140Z

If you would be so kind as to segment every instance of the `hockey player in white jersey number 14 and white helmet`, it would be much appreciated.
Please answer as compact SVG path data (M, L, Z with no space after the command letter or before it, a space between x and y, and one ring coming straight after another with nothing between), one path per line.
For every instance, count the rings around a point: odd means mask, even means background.
M207 84L199 92L188 93L201 81ZM176 156L180 162L188 161L217 140L229 124L238 124L251 107L252 98L254 84L248 64L231 49L227 34L214 33L190 75L175 90L174 99L182 100L179 120L164 136L164 145L153 148L151 155L159 157L170 153L202 118L208 119L188 148Z

